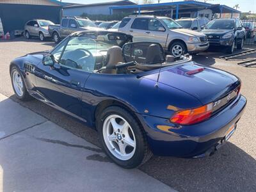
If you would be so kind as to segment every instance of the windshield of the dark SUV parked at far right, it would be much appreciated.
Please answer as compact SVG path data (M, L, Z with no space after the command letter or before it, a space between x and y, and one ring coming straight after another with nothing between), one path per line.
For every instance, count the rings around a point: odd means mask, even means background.
M235 22L234 20L211 20L206 26L205 29L234 29Z

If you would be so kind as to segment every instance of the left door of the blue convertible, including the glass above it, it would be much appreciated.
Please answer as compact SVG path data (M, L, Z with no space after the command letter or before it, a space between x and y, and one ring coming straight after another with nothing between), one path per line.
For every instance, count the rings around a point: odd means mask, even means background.
M82 38L78 37L68 37L61 42L51 52L54 67L42 63L36 66L35 79L37 92L43 102L84 120L81 118L83 87L94 69L95 60L92 54L88 53L90 60L86 52L83 54L81 40Z

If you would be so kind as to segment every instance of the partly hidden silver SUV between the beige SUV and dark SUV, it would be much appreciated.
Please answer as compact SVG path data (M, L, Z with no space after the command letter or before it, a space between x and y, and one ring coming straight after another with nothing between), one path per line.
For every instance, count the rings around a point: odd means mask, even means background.
M209 22L209 19L204 17L197 17L197 18L182 17L180 19L177 19L176 21L180 24L180 26L182 26L185 29L202 31L205 25Z

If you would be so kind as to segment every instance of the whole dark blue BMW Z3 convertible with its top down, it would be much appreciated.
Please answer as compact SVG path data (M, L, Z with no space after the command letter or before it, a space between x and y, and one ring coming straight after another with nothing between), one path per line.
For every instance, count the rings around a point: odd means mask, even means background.
M123 168L152 154L210 156L246 106L238 77L118 32L73 33L52 51L13 60L10 76L20 100L41 100L95 127Z

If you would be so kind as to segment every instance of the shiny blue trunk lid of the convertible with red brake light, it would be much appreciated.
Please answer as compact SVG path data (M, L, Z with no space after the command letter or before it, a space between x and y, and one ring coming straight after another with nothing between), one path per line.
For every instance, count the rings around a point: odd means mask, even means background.
M200 72L195 74L188 74L188 72L195 72L199 68L202 71L199 70ZM154 70L152 74L147 74L143 78L157 81L158 74ZM240 84L240 81L236 76L228 72L198 65L191 61L181 65L174 65L173 67L162 68L159 74L159 83L189 93L200 100L202 104L208 104L234 90Z

